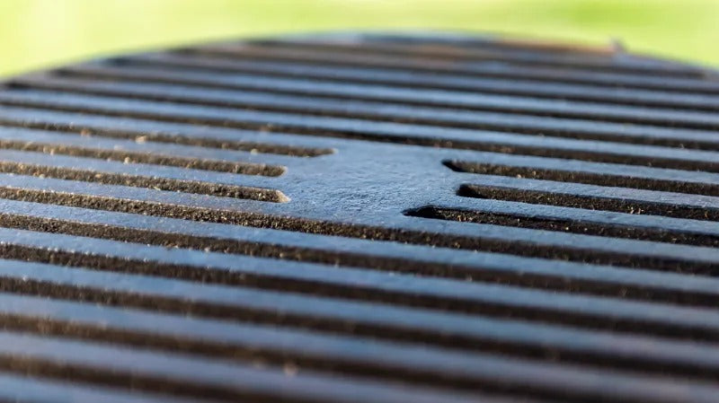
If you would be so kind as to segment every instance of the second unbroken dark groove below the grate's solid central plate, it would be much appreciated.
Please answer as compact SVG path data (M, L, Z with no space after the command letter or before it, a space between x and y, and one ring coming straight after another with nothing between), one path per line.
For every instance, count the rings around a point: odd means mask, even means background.
M439 262L422 262L411 258L391 258L368 252L347 252L322 248L295 247L260 241L226 240L170 232L130 229L121 226L74 223L21 215L0 215L0 225L25 231L62 233L110 241L140 242L172 248L233 253L262 258L310 262L324 265L341 265L386 272L407 273L418 276L455 278L474 282L540 287L575 293L621 295L638 300L671 302L685 305L714 306L716 295L697 290L666 290L649 287L602 282L598 279L568 279L553 274L515 273L511 269L487 269L480 266L464 267Z

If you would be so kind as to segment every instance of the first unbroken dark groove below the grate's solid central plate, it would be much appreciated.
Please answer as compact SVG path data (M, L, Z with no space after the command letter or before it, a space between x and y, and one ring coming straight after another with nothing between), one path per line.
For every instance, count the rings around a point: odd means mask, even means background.
M378 241L403 241L427 246L493 251L532 258L555 258L594 264L643 267L662 271L719 276L719 265L715 263L692 260L678 261L673 258L642 256L641 253L584 250L567 246L540 244L535 244L532 245L531 248L528 248L523 242L517 241L500 241L463 235L423 233L356 224L318 222L315 220L283 217L281 215L262 215L249 212L214 210L195 206L174 206L142 200L123 200L93 195L73 195L24 188L0 188L0 198L54 204L58 206L77 206L112 212L140 213L143 215L181 218L206 223L230 223Z

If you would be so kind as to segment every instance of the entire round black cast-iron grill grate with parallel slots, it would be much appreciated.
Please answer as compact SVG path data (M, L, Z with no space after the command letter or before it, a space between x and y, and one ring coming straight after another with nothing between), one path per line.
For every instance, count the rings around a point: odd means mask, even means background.
M452 36L0 89L0 400L716 402L719 81Z

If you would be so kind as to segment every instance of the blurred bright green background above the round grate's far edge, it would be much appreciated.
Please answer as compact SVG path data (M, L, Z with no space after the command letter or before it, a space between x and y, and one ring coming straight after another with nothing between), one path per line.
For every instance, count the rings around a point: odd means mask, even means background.
M719 0L0 0L0 75L209 39L387 28L622 39L719 66Z

